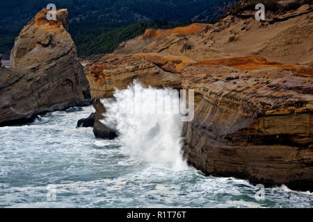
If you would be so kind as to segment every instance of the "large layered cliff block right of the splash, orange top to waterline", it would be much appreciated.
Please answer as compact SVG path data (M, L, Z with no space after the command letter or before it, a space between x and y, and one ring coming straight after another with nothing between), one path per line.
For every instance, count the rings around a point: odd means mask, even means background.
M202 97L184 128L184 157L209 175L312 191L312 76L257 57L184 69L182 87Z

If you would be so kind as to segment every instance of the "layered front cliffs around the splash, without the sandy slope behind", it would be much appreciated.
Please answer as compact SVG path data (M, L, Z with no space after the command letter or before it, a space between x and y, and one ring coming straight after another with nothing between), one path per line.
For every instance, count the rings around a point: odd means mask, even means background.
M107 55L86 67L97 137L118 135L99 120L100 99L134 79L195 90L195 118L184 126L184 157L208 175L265 186L313 188L313 69L260 57L195 62L157 53ZM174 78L175 77L175 78Z

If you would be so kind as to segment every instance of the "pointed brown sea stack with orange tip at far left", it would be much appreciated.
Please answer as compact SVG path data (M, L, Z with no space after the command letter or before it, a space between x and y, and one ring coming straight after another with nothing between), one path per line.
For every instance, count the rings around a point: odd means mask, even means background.
M48 21L47 10L41 10L15 39L12 69L0 71L0 126L87 104L81 86L83 67L67 33L67 10L56 13L56 21Z

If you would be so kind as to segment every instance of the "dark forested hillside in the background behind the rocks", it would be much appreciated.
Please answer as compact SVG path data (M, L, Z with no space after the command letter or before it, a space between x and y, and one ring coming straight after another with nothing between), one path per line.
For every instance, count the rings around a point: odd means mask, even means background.
M70 34L78 46L79 55L84 56L85 51L87 54L112 51L118 42L140 35L145 28L159 28L156 24L166 24L165 28L170 28L191 19L202 22L214 19L220 16L216 6L221 6L222 2L223 0L0 1L0 53L9 55L14 37L48 3L55 3L56 8L67 8ZM129 26L131 24L135 25ZM105 43L99 46L99 42ZM99 46L99 49L90 49L91 46Z

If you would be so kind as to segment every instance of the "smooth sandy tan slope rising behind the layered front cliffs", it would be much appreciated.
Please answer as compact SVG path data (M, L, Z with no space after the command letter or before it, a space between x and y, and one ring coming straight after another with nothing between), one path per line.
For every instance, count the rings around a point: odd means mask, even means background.
M271 61L305 65L313 62L312 28L312 5L305 4L283 14L266 12L265 22L255 19L255 11L245 11L192 33L188 33L191 30L188 26L167 32L148 30L145 35L120 44L115 53L162 53L198 61L262 56Z

